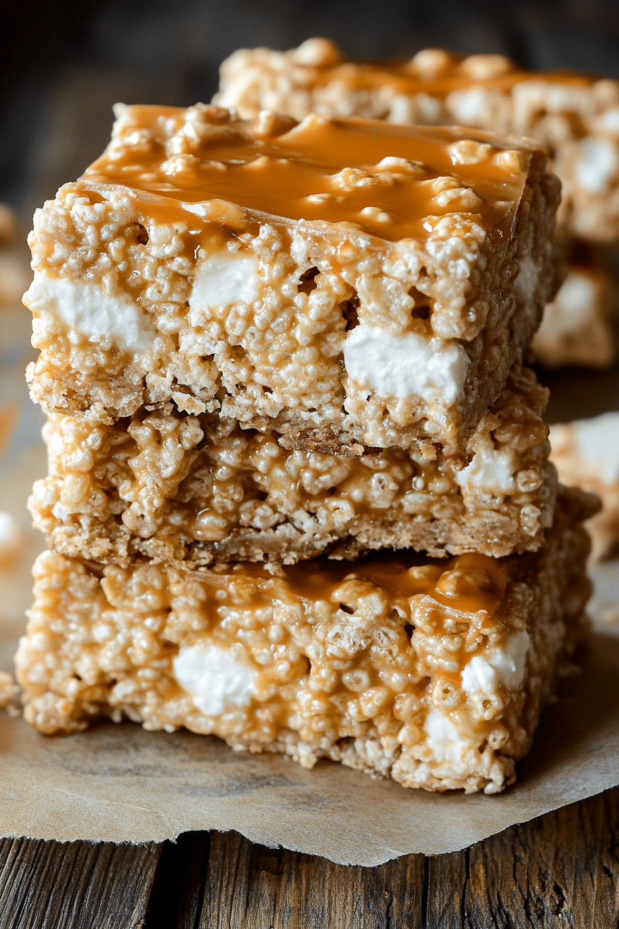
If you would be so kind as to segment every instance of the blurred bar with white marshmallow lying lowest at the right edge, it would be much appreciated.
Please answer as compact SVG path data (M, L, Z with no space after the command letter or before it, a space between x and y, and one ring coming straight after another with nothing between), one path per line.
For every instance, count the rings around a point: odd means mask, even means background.
M599 561L619 543L619 412L551 425L550 443L560 479L601 499L600 513L587 520L591 558Z

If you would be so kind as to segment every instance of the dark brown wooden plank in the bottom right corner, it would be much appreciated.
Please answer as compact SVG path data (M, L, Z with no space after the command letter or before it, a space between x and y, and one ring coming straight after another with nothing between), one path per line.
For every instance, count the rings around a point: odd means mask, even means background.
M428 929L619 925L619 791L429 862Z

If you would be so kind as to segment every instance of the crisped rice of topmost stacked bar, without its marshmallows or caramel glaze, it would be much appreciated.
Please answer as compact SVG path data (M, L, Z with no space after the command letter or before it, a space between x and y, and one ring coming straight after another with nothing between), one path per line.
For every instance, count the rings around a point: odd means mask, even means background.
M140 128L140 112L122 111L115 157L131 159L135 149L138 158L147 143L164 157L181 141L187 158L193 151L205 157L200 132L235 125L226 111L189 108L177 111L159 139ZM520 170L521 151L500 154ZM472 433L512 363L522 360L558 284L551 242L558 182L540 152L527 150L526 159L529 176L510 236L484 229L464 207L428 216L425 241L389 242L353 224L284 221L228 204L198 256L190 220L153 219L147 202L118 185L65 185L36 212L29 240L35 283L25 300L34 316L32 344L41 351L28 369L32 399L49 411L92 411L110 423L173 403L181 412L274 429L287 448L362 455L431 442L464 463ZM453 178L429 183L439 198L471 194ZM258 295L190 310L194 278L216 255L255 266ZM50 280L96 288L123 307L128 301L150 333L148 346L128 350L114 334L71 328L56 297L41 289ZM343 363L357 325L417 334L437 358L464 348L461 390L452 399L443 387L398 397L357 383Z

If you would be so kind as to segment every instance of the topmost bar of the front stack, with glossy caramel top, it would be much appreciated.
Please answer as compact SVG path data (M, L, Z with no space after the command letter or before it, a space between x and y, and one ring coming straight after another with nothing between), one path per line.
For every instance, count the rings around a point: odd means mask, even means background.
M559 185L473 130L119 107L34 218L32 398L466 464L556 289Z

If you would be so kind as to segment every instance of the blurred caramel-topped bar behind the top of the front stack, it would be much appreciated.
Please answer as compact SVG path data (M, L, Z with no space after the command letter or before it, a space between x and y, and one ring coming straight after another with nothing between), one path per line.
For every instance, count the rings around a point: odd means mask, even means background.
M593 242L619 237L619 83L531 72L502 55L427 48L404 62L348 61L326 39L287 52L241 49L213 98L245 117L264 109L392 123L476 126L535 138L561 178L560 226Z

